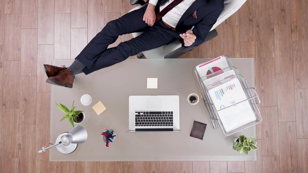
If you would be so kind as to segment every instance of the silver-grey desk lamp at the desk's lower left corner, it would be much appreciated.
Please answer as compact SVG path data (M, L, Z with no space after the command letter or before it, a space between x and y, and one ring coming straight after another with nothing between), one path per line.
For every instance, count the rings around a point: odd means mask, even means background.
M39 153L55 147L62 154L70 154L74 152L78 146L78 143L83 143L87 140L87 130L82 126L76 126L70 132L61 133L56 139L55 143L47 148L42 147Z

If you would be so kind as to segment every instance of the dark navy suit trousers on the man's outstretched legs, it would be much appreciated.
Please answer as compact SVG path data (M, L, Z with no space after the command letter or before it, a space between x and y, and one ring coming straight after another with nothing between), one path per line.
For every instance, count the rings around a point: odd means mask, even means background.
M82 70L85 74L124 61L141 51L151 50L179 39L180 33L168 29L161 20L153 27L148 26L143 21L146 7L145 5L108 22L103 30L88 43L76 57L86 66ZM107 48L117 40L118 36L134 32L144 33L129 41L121 42L116 47Z

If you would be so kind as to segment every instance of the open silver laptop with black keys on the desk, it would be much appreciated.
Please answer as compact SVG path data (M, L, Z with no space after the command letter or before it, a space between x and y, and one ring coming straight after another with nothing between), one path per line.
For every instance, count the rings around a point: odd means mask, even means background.
M181 132L178 95L129 96L127 132Z

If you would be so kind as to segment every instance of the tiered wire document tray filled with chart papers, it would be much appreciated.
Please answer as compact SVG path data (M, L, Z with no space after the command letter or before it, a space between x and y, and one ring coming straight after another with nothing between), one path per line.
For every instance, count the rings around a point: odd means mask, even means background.
M220 61L221 68L207 67L217 65L215 63L218 61ZM201 68L204 68L205 71ZM248 86L246 79L233 67L230 58L225 55L219 56L197 65L194 71L203 92L200 93L201 97L214 129L220 127L224 135L228 136L262 121L257 107L257 104L260 104L260 99L256 89ZM240 96L236 95L233 99L229 95L231 102L228 102L227 105L217 104L221 103L219 101L227 93L231 93L231 90L235 92L236 89L240 91ZM243 118L239 118L239 116Z

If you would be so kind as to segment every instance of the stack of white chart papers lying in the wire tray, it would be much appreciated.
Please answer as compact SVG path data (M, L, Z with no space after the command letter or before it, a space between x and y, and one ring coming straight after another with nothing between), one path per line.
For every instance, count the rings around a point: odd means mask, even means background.
M256 115L246 100L247 95L236 72L228 67L225 56L219 56L196 67L209 101L214 105L226 132L256 121Z

